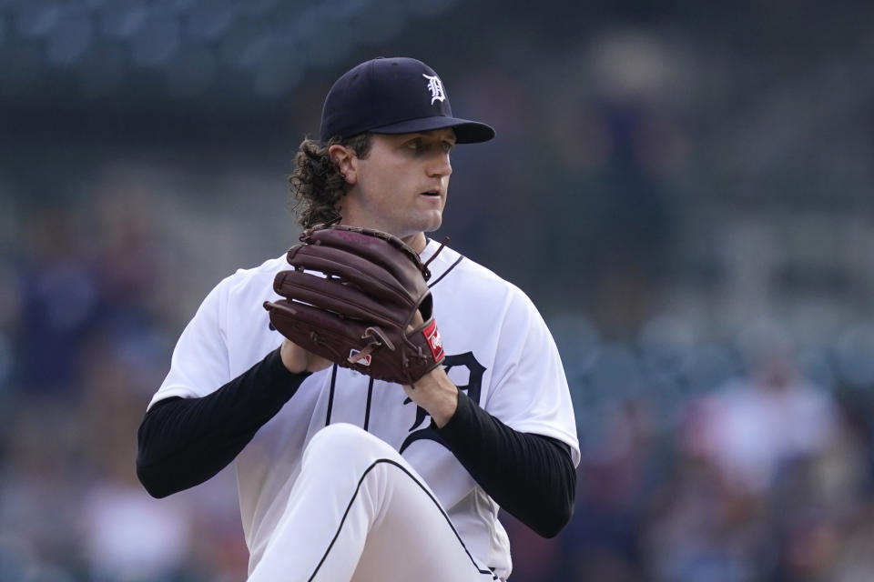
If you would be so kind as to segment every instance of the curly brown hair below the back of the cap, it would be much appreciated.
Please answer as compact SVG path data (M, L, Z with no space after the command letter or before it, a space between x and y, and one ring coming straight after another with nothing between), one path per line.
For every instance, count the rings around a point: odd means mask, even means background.
M355 156L366 158L371 152L372 134L352 135L346 139L332 138L326 143L304 139L294 156L294 171L289 176L291 196L296 201L295 214L300 226L309 228L330 222L340 216L340 199L349 192L349 185L340 168L330 159L328 148L334 144L346 146Z

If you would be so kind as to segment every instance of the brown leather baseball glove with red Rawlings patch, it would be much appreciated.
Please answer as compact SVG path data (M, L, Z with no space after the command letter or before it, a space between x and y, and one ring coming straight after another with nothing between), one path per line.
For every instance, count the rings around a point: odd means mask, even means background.
M374 378L412 385L440 366L428 267L397 236L317 225L300 235L264 302L270 324L317 356ZM412 326L416 312L424 323Z

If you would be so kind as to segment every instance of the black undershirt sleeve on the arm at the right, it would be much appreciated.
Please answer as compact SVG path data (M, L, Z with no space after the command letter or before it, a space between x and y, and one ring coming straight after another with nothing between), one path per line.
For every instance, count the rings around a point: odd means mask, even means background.
M437 432L485 492L538 535L554 537L574 515L576 471L565 443L513 430L461 390Z

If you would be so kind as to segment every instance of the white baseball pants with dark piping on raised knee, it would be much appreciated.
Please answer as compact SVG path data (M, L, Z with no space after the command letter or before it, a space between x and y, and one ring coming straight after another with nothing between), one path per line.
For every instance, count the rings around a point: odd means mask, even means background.
M303 454L285 513L249 582L486 582L422 477L349 424Z

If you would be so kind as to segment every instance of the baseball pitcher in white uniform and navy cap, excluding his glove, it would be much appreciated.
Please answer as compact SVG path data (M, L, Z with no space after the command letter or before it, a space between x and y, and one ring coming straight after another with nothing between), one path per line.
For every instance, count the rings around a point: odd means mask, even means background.
M430 275L406 326L430 330L428 371L369 375L370 358L375 368L390 354L380 333L381 352L353 349L348 361L284 337L275 285L294 249L222 280L179 337L139 428L137 474L165 497L233 463L249 580L505 580L500 507L544 537L570 519L580 453L543 318L520 289L425 234L441 226L453 147L493 135L452 116L428 65L373 59L331 87L320 139L301 144L290 177L302 226L380 231ZM300 337L330 343L307 325Z

